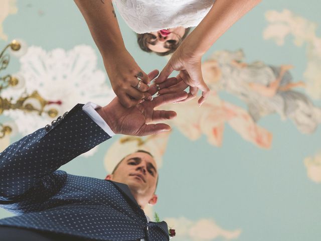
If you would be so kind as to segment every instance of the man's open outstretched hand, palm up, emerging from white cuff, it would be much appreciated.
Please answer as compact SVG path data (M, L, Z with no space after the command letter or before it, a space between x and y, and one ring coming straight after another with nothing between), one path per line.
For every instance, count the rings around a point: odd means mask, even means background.
M152 71L148 74L150 79L157 76L158 71ZM161 88L169 87L176 84L175 78L169 78L165 81ZM153 95L156 87L151 86L149 90ZM148 124L150 122L164 121L176 117L176 112L172 110L154 110L155 107L168 103L178 102L186 99L188 94L185 91L176 93L162 94L153 100L145 100L131 108L125 108L115 97L106 106L97 109L97 112L104 119L110 129L116 134L124 134L130 136L147 136L160 132L170 131L171 127L167 124Z

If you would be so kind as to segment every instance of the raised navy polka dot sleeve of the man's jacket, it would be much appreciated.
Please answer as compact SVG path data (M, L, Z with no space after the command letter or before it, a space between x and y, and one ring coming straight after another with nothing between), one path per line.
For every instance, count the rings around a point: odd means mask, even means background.
M12 203L44 186L44 181L52 190L50 186L61 182L51 178L63 176L55 172L60 166L110 139L82 106L77 104L50 128L39 129L0 153L0 204Z

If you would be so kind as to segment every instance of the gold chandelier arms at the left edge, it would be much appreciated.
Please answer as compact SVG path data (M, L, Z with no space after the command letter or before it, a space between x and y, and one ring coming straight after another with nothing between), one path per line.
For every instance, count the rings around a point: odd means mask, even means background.
M10 62L10 55L6 54L6 51L11 49L12 51L21 51L22 44L17 40L13 40L8 44L0 53L0 72L6 69ZM5 76L0 76L0 94L3 89L6 88L22 88L24 86L24 78L22 76L15 76L7 74ZM31 94L24 92L17 101L13 102L13 97L3 98L0 96L0 114L5 110L9 109L19 109L25 112L38 112L39 115L42 113L47 113L50 117L55 117L58 115L58 110L55 108L50 108L44 110L46 105L49 104L61 104L61 101L48 101L44 99L37 90L33 91ZM4 138L6 135L10 135L13 132L13 127L10 124L0 123L0 138Z

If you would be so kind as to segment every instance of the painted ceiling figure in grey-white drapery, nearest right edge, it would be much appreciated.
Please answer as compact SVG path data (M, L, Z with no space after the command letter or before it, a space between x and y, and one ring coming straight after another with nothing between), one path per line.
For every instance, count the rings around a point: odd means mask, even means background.
M212 89L225 90L245 101L254 122L276 112L282 119L291 119L301 133L313 133L321 123L321 108L293 90L305 86L302 81L293 82L289 72L293 66L276 67L261 61L248 64L244 57L242 50L215 52L202 64L205 81Z

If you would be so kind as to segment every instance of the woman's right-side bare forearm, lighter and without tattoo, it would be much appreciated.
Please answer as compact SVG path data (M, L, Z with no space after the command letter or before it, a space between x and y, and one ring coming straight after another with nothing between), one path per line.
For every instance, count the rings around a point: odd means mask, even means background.
M260 0L216 0L210 12L184 41L194 54L203 55L235 22Z

